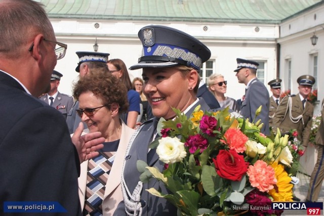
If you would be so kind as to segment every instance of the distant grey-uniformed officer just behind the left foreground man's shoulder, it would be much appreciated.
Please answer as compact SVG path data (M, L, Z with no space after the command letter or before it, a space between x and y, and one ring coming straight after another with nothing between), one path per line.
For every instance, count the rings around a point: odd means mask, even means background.
M39 99L60 111L66 119L67 113L73 106L73 98L57 90L62 76L60 72L53 70L51 76L51 90Z

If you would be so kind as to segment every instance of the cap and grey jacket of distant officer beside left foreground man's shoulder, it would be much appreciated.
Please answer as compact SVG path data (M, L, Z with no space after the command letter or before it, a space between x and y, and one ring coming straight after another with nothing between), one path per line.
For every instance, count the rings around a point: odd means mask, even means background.
M52 73L52 76L51 76L51 80L61 80L61 77L63 75L56 71L56 70L53 70L53 73ZM43 95L42 97L40 97L39 99L44 101L45 103L48 103L49 105L50 104L50 95L49 94L45 94ZM54 107L55 109L57 109L58 111L60 111L64 118L66 119L67 117L67 113L70 111L70 109L72 108L73 106L73 98L69 95L65 95L65 94L61 94L60 92L57 92L57 95L56 97L54 98L53 100L53 104L51 105L52 107Z

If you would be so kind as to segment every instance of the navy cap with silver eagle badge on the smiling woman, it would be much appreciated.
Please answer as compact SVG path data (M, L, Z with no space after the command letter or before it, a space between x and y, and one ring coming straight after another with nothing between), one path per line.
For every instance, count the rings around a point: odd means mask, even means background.
M138 37L143 44L142 57L130 70L186 65L199 72L201 64L211 57L202 42L178 29L148 25L138 32Z

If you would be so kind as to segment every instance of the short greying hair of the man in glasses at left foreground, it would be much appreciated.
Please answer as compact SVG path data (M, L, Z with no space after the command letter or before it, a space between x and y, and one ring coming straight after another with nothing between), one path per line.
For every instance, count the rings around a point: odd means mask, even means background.
M52 39L54 30L43 7L31 0L0 0L0 55L17 58L21 47L39 33Z

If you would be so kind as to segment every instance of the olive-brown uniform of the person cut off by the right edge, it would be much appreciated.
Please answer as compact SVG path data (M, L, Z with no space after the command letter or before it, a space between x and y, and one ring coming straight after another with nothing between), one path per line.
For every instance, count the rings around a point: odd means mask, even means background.
M306 201L316 202L321 191L324 178L324 100L322 102L321 120L315 137L317 161L310 176L309 189Z

